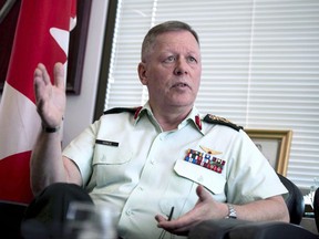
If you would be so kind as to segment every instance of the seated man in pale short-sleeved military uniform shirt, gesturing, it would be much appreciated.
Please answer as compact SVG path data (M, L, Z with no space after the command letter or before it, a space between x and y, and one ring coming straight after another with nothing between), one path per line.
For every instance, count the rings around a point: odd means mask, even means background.
M245 132L194 105L202 58L188 24L151 29L137 71L147 103L106 111L61 152L64 73L58 63L52 85L39 64L43 131L31 162L34 195L54 183L79 185L94 204L114 205L119 237L130 239L158 238L163 229L183 238L207 219L289 221L287 189Z

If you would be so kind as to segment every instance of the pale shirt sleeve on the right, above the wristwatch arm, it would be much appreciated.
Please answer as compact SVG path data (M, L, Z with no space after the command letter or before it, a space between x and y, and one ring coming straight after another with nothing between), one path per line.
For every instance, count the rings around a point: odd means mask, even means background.
M275 169L244 131L234 141L231 160L226 185L229 202L241 205L288 193Z

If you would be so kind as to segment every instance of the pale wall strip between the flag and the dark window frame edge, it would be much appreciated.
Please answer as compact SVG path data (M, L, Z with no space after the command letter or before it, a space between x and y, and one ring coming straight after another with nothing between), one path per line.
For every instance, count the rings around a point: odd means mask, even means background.
M63 146L92 123L109 0L92 0L82 89L68 95Z

